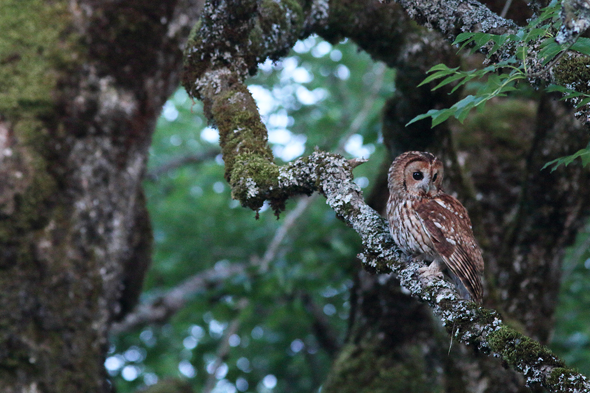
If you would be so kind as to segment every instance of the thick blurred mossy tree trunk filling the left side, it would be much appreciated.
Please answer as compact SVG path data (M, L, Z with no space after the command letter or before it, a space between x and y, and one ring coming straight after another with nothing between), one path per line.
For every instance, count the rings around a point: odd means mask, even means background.
M0 391L110 391L109 324L150 258L140 181L199 1L1 8Z

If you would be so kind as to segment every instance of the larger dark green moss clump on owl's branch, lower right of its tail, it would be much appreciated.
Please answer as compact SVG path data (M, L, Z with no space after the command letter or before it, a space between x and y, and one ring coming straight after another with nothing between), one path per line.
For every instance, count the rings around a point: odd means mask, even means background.
M539 358L542 358L546 365L564 365L549 349L506 326L491 332L487 341L490 349L500 354L504 361L512 367L518 367L523 363L534 364Z

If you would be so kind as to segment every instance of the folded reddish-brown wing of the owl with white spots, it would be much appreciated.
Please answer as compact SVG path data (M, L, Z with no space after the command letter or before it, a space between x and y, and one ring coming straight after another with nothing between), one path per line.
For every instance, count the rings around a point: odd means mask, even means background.
M417 201L414 209L434 249L461 280L471 298L481 303L483 258L465 207L453 196L440 194L432 199Z

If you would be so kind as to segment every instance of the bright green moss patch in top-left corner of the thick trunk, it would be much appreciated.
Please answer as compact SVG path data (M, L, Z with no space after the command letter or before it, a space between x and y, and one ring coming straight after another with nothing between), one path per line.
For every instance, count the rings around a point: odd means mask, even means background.
M0 113L14 119L23 111L51 113L52 96L60 78L75 61L64 45L77 37L64 37L69 26L67 2L6 0L0 14ZM59 71L57 71L59 70Z

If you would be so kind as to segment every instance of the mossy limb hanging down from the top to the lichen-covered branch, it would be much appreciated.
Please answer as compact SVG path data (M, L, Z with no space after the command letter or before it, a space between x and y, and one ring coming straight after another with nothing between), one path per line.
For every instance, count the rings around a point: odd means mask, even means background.
M285 55L319 23L322 18L314 14L325 10L316 3L208 1L185 50L183 85L203 101L205 114L219 129L232 196L253 210L270 200L278 214L288 196L276 192L279 170L244 78L254 74L258 62Z

